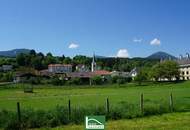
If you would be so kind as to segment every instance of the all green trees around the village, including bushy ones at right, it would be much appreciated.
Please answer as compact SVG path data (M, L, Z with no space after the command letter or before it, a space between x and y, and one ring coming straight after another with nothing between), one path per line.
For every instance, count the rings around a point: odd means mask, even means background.
M92 57L83 55L76 55L73 58L62 56L53 56L51 53L46 55L35 50L31 50L29 53L20 53L16 58L0 58L0 65L11 64L14 67L13 71L19 70L19 68L32 68L33 70L47 69L49 64L72 64L73 71L78 64L86 65L89 70L91 67ZM136 81L141 83L142 81L159 81L162 79L173 78L179 79L180 73L178 64L174 61L159 62L159 60L146 59L146 58L96 58L96 63L99 69L108 71L123 71L130 72L133 68L138 68L138 75L135 78ZM11 75L13 73L0 73L0 81L12 80ZM1 80L2 79L2 80ZM7 79L7 80L6 80ZM78 81L78 80L76 80ZM75 80L73 82L76 82ZM113 79L114 81L114 79ZM118 78L118 83L122 83L124 80ZM115 81L116 82L116 81Z

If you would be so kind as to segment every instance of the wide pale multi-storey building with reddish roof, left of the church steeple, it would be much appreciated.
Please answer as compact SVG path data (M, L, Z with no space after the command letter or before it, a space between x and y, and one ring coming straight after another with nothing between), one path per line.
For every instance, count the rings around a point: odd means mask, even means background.
M50 64L48 71L51 73L71 73L72 65L70 64Z

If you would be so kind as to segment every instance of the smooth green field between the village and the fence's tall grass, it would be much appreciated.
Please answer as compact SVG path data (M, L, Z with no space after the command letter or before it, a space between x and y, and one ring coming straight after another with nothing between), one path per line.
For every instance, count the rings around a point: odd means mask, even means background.
M22 85L0 86L0 109L16 110L16 102L21 103L21 108L51 109L56 105L67 105L71 99L72 107L104 106L106 98L110 105L128 102L139 104L139 97L144 93L145 103L168 103L169 95L174 96L175 107L183 110L190 108L190 82L177 84L151 84L136 86L126 84L122 86L85 86L85 87L57 87L35 86L34 93L24 93ZM7 88L9 87L9 88ZM146 104L145 104L146 105Z

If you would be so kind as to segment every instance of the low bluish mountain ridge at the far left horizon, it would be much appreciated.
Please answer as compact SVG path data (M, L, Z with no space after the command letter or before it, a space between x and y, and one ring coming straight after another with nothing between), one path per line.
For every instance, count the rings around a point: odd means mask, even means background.
M16 57L20 53L29 53L29 49L13 49L9 51L0 51L0 56L3 57Z

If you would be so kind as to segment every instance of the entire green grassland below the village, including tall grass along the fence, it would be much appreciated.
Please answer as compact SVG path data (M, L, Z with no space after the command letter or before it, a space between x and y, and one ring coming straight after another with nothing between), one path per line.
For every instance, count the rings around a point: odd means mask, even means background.
M24 93L23 88L26 87L31 86L29 84L0 86L1 128L12 129L18 125L17 102L20 102L21 119L25 128L51 128L64 125L57 130L80 130L85 115L106 115L110 130L141 129L141 125L142 130L161 130L162 126L163 129L169 130L189 128L189 118L187 118L190 112L189 81L143 83L141 86L136 83L101 86L35 85L33 93ZM143 113L140 111L142 93ZM170 110L169 105L171 93L173 111ZM109 112L106 109L107 99L109 99ZM69 100L71 101L70 119L68 118ZM170 112L183 113L161 116ZM150 116L153 117L149 119ZM141 124L142 122L144 123Z

